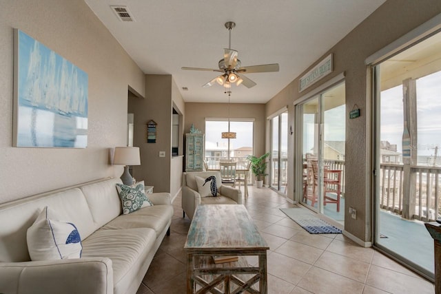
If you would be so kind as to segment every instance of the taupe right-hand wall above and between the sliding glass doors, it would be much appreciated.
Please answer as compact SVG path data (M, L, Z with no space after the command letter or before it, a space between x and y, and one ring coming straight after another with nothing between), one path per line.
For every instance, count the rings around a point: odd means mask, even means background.
M323 54L322 58L329 53L334 54L334 72L301 94L298 93L298 78L296 78L267 103L267 114L275 112L283 105L289 105L291 108L298 98L345 72L347 104L345 211L349 209L349 206L357 209L357 220L353 220L346 213L345 230L362 241L371 241L373 198L370 177L372 169L370 165L371 98L367 84L369 76L364 61L374 52L440 12L441 1L388 0L334 48ZM305 72L308 70L305 69ZM362 115L349 120L349 111L355 104L361 109ZM289 113L294 118L294 111ZM293 142L294 140L291 140L291 144Z

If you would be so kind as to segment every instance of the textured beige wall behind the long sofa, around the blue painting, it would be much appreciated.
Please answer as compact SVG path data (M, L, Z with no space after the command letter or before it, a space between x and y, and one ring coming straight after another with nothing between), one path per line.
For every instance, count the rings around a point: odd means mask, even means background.
M145 93L144 74L82 0L1 0L0 202L119 176L109 149L126 145L127 87ZM88 147L12 147L13 28L88 74Z

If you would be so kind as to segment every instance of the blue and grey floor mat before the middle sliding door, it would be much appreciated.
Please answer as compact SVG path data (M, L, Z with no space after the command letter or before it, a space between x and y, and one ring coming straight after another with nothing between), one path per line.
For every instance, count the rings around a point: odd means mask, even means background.
M311 234L340 234L342 230L317 218L313 213L301 208L281 208L291 220Z

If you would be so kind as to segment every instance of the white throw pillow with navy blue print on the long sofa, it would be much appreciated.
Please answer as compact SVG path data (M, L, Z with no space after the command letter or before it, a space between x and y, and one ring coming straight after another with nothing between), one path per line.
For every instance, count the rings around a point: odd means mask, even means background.
M62 222L45 207L28 229L28 250L31 260L64 260L81 258L81 238L75 225Z

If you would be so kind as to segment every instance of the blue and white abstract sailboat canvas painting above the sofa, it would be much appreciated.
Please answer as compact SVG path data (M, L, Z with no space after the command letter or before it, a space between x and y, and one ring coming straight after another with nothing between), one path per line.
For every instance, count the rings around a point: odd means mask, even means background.
M13 145L88 145L88 74L17 29Z

